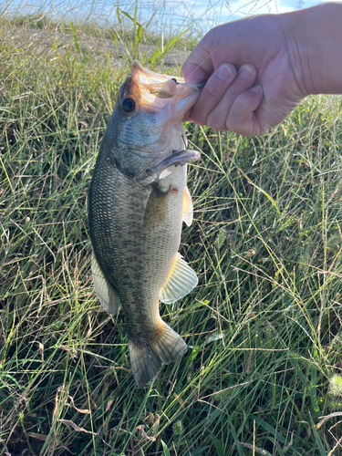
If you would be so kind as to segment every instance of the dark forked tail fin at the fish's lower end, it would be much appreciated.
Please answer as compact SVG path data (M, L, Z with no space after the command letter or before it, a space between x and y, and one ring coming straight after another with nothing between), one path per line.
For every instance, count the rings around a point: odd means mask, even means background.
M166 323L161 323L161 333L150 341L140 342L129 337L130 368L138 388L157 377L162 364L170 364L187 350L181 336Z

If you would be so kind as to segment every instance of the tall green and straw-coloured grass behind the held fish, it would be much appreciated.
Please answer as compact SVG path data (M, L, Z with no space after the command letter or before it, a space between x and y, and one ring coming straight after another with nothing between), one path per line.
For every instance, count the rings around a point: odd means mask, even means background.
M200 283L161 315L189 350L139 390L85 206L129 64L78 52L74 28L43 50L0 36L0 454L342 454L341 98L260 138L186 125Z

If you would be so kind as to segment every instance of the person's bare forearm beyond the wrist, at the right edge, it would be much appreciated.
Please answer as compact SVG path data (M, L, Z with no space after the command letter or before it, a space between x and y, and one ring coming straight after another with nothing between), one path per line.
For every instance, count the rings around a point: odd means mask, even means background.
M342 94L342 3L280 15L279 21L303 93Z

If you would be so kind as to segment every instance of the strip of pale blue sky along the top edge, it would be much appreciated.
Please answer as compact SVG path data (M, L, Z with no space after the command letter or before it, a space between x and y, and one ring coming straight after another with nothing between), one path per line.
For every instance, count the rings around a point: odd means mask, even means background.
M0 0L0 8L8 5L8 10L22 14L39 9L53 16L69 16L71 20L90 17L115 22L118 6L133 15L136 2L142 24L147 24L154 15L156 26L166 32L192 24L200 34L212 26L245 16L286 13L323 3L321 0Z

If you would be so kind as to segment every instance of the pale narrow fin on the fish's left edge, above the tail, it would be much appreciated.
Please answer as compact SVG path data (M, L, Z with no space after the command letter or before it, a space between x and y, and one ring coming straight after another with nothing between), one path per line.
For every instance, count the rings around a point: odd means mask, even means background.
M109 314L115 314L119 309L119 293L108 283L103 275L94 252L91 256L91 274L98 301Z

